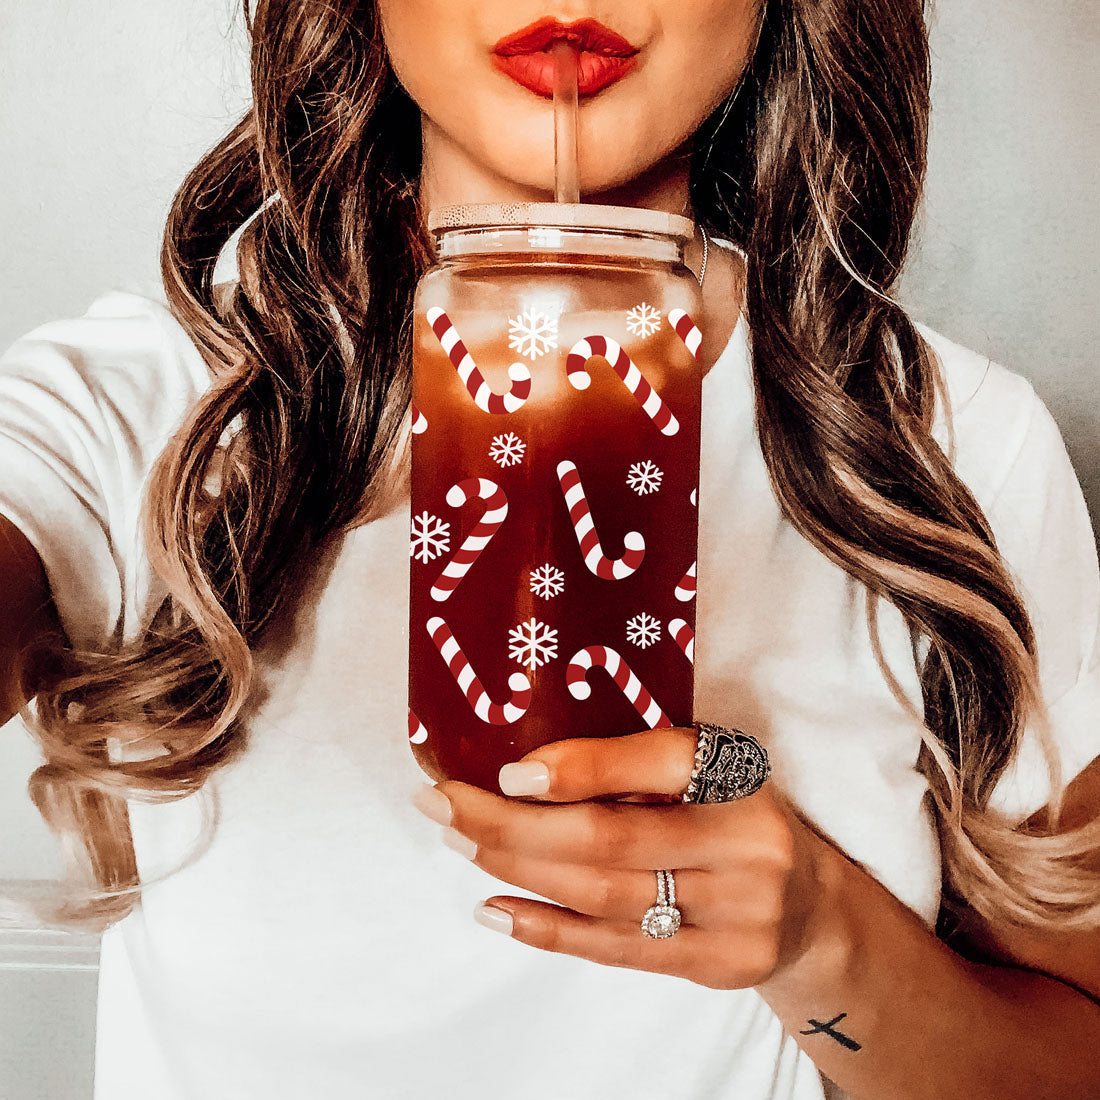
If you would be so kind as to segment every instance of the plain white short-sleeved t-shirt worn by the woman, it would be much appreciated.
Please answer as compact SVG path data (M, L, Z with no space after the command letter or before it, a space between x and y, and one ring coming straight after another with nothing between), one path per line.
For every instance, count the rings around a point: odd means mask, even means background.
M1100 755L1100 572L1081 492L1028 383L925 334L957 469L1034 617L1068 778ZM123 293L0 360L0 513L41 554L75 641L132 637L156 605L141 488L207 385L164 306ZM703 394L696 716L755 733L772 781L931 927L941 866L917 726L875 660L861 586L780 515L744 321ZM408 538L407 499L348 535L258 654L268 694L211 781L212 844L103 936L96 1100L821 1100L813 1062L755 991L474 923L477 901L524 892L444 847L409 803L424 777L407 745ZM919 700L886 604L880 630ZM1048 793L1028 736L996 804L1022 818ZM131 803L143 878L189 850L202 805Z

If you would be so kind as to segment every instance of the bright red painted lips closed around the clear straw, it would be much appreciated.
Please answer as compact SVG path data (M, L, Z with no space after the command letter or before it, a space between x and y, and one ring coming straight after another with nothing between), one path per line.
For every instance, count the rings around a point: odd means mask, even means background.
M594 19L561 23L540 19L493 46L493 64L537 96L553 97L553 57L550 47L568 42L578 51L576 90L595 92L622 79L634 68L638 47Z

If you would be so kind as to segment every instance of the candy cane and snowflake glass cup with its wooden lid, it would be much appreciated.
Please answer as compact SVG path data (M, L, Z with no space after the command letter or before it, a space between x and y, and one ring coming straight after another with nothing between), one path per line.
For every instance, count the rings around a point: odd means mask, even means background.
M569 737L692 721L693 223L447 207L414 305L409 739L497 791Z

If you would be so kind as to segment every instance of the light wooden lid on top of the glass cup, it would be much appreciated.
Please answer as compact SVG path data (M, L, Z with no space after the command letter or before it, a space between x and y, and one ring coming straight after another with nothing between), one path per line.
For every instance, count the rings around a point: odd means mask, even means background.
M428 229L437 237L455 229L525 229L539 226L651 233L685 243L695 235L695 222L682 215L595 202L475 202L436 207L428 212Z

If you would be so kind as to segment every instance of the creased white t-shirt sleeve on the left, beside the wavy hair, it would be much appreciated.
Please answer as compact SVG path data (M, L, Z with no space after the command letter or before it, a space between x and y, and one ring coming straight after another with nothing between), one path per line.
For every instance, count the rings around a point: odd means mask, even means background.
M0 514L42 559L75 646L118 645L163 600L143 550L144 487L207 385L167 308L123 292L0 356Z

